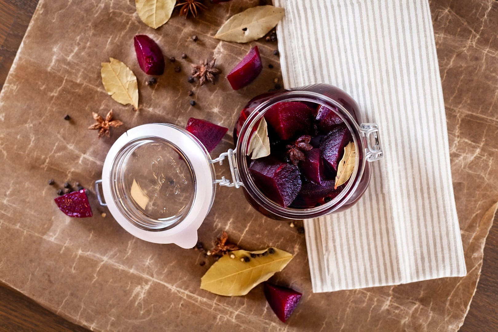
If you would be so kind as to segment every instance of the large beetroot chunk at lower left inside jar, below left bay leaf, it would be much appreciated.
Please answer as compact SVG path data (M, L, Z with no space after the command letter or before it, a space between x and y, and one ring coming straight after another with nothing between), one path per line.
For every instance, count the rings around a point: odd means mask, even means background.
M301 189L297 166L271 156L254 160L249 166L249 172L259 190L284 208L294 201Z

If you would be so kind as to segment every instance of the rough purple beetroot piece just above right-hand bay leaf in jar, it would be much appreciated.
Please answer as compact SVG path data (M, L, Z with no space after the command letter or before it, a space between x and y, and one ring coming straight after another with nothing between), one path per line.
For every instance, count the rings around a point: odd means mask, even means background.
M344 154L344 147L352 140L351 131L346 125L334 128L325 136L320 144L320 154L331 169L337 171L337 165Z

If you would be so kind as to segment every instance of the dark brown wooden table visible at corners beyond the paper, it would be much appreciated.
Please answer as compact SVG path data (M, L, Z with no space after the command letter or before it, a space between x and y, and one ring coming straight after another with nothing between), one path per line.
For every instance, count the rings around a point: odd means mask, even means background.
M0 88L7 77L38 0L0 0ZM497 220L495 220L497 221ZM0 254L1 257L1 254ZM481 280L460 331L498 331L498 224L484 250ZM0 282L1 331L87 331Z

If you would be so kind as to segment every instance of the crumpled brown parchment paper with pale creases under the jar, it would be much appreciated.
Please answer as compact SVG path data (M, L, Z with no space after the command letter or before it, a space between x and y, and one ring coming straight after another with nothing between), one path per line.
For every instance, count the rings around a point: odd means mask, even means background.
M393 287L312 294L304 236L286 222L263 218L241 190L218 188L199 229L210 246L228 230L246 249L269 245L296 257L273 281L304 296L287 324L266 304L262 287L226 298L199 289L211 261L199 251L147 243L103 218L95 194L92 219L70 219L53 203L57 186L92 188L106 153L126 129L148 122L185 125L190 116L233 128L240 109L279 77L276 43L220 42L212 36L232 14L259 3L212 5L198 20L178 17L157 30L143 24L134 1L41 0L0 96L0 279L59 315L92 330L168 331L453 331L463 323L479 278L484 241L498 201L498 2L432 0L446 102L452 172L468 275ZM165 74L150 88L135 60L132 37L161 45ZM190 36L199 37L197 43ZM190 64L216 56L226 75L253 45L265 69L234 92L187 82ZM188 58L181 59L185 52ZM100 81L100 63L115 57L136 74L140 109L113 101ZM268 64L273 69L268 69ZM175 73L180 65L182 73ZM194 88L194 96L187 91ZM195 99L197 105L189 102ZM124 126L110 139L86 128L92 111L115 110ZM64 121L70 114L71 121ZM232 147L231 130L213 156ZM219 168L218 175L226 168ZM48 179L57 182L48 186ZM200 266L201 261L208 262Z

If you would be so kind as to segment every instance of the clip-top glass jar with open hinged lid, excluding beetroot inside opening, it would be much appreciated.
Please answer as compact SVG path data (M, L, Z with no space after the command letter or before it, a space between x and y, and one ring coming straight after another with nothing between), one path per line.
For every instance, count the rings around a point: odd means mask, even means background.
M248 151L256 124L273 105L299 101L332 109L351 132L357 158L344 189L330 202L313 208L284 208L268 199L249 172ZM319 84L263 94L241 111L234 128L235 149L212 159L190 132L173 124L149 123L126 131L113 144L95 187L99 202L129 233L155 243L191 248L209 213L216 186L243 187L249 203L273 219L308 219L344 211L370 182L371 162L382 158L375 123L362 123L358 104L344 91ZM214 164L228 160L230 177L217 179ZM101 188L102 193L101 195Z

